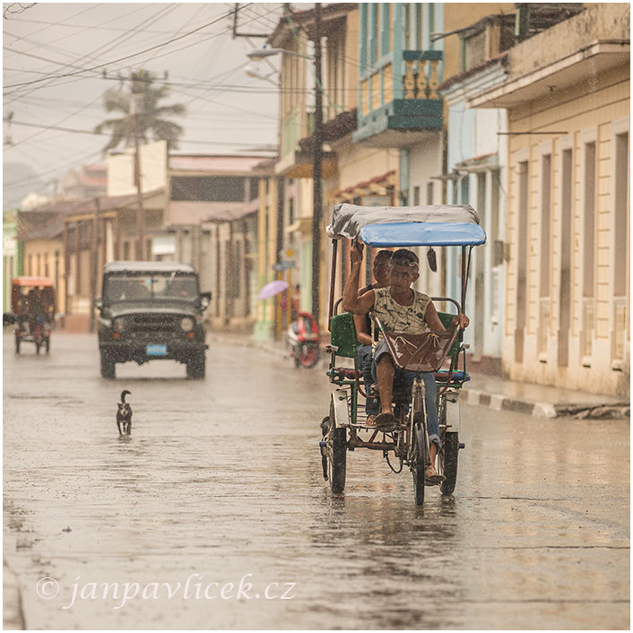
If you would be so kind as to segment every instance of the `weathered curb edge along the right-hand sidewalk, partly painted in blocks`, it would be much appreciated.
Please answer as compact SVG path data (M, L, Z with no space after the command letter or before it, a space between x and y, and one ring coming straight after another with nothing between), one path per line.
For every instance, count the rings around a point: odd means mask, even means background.
M222 336L221 334L210 334L209 340L215 340L219 343L229 343L238 345L239 347L255 347L257 349L267 351L275 356L288 359L288 352L280 349L279 345L266 343L264 341L255 341L253 339L237 339L231 336ZM324 359L325 367L327 359ZM548 402L533 402L531 400L522 400L520 398L507 396L503 394L495 394L490 391L481 391L466 387L461 390L461 401L475 406L483 406L493 411L511 411L523 413L534 418L542 418L553 420L554 418L572 417L577 420L585 418L604 419L604 420L624 420L630 417L630 404L622 403L575 403L575 404L556 404Z

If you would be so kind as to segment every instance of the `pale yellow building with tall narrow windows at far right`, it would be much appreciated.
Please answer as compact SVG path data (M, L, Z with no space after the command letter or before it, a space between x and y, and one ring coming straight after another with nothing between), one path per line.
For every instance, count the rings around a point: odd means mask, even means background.
M629 25L629 4L591 5L469 101L507 108L512 379L629 394Z

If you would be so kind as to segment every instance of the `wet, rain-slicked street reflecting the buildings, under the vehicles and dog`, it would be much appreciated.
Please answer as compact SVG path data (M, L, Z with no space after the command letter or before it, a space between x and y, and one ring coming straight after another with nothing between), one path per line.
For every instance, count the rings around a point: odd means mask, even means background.
M4 557L29 629L629 628L629 421L463 405L454 499L416 508L411 475L362 450L335 497L324 372L210 343L204 381L170 361L107 381L96 336L15 357L4 335Z

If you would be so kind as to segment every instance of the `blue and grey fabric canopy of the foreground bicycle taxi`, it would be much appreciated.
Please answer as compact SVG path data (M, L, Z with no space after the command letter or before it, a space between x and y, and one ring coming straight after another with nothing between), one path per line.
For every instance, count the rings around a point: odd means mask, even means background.
M486 242L470 204L357 206L338 204L330 238L359 238L372 247L477 246Z

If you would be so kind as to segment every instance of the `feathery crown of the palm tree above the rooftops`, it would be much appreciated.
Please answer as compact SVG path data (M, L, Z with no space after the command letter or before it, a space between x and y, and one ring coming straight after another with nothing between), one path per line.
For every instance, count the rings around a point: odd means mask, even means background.
M126 80L116 88L109 88L103 94L103 105L106 112L122 113L122 117L108 118L94 128L95 134L101 134L108 130L112 135L108 144L103 148L103 153L113 150L121 143L126 147L134 146L134 114L132 113L132 101L134 94L141 97L140 114L138 115L139 143L152 141L167 141L169 149L178 149L178 137L183 133L183 128L177 123L164 117L183 116L186 108L181 103L171 106L160 106L160 100L169 97L169 87L153 84L155 77L146 70L132 73L129 78L131 91L126 93L123 87ZM151 133L151 138L150 138Z

